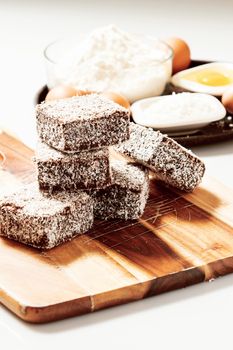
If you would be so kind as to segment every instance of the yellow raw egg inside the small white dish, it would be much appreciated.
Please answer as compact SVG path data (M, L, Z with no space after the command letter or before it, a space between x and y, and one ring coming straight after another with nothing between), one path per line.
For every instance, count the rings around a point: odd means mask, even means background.
M208 86L223 86L233 83L233 73L206 69L201 72L188 74L186 79Z

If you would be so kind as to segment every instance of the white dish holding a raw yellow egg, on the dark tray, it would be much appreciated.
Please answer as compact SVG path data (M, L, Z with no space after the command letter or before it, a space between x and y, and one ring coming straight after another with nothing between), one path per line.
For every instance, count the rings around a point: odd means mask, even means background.
M173 75L171 83L186 91L222 96L233 87L233 64L215 62L189 68Z

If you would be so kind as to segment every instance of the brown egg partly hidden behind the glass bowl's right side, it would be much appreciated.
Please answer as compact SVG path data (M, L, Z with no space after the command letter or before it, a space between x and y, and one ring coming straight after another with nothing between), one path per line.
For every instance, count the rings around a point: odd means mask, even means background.
M167 38L164 41L173 49L173 74L187 69L191 61L191 52L188 44L180 38Z

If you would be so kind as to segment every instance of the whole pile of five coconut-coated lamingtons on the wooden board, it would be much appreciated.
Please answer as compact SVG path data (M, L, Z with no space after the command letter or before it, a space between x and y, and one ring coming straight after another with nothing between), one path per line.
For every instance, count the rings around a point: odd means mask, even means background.
M38 183L0 199L0 235L49 249L87 232L95 217L137 219L149 194L148 169L192 191L204 174L202 161L129 117L99 94L38 105ZM134 163L110 160L109 146Z

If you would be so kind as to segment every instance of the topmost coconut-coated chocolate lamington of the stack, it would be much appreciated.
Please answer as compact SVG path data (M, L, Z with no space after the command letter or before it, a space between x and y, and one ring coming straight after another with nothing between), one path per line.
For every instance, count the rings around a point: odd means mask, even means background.
M98 94L42 102L36 119L40 138L64 152L115 145L129 138L129 111Z

